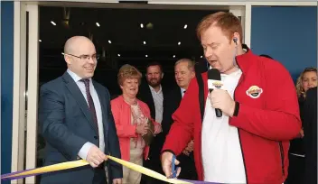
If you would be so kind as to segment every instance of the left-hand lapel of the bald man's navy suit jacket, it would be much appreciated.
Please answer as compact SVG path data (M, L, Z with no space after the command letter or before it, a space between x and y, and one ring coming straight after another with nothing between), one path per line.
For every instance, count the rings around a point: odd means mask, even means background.
M85 117L88 119L89 124L91 127L94 129L96 133L97 129L95 127L94 121L93 121L93 116L91 115L89 111L89 105L85 100L85 97L81 93L78 85L75 83L73 78L70 77L69 73L65 72L64 75L62 76L64 79L66 87L69 89L71 95L75 98L76 102L79 104L80 110L83 112Z

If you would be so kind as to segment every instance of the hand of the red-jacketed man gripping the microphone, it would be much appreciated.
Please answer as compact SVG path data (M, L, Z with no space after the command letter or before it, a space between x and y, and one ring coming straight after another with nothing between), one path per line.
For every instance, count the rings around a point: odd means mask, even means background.
M233 116L235 101L229 96L229 92L223 89L213 89L210 92L210 104L213 108L219 108L224 114Z

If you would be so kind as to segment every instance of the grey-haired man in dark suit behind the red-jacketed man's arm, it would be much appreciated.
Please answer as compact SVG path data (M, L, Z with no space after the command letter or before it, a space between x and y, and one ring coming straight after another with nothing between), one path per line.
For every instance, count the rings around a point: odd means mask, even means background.
M164 136L164 139L173 124L172 115L179 107L182 97L189 87L190 81L195 77L193 61L189 59L176 61L174 65L174 77L178 87L171 90L166 97L164 97L164 119L162 123L162 136ZM163 144L164 142L162 143L162 146ZM180 165L182 166L182 171L178 177L179 179L197 179L192 151L193 141L188 143L188 146L184 149L182 154L177 157L177 160L180 161Z

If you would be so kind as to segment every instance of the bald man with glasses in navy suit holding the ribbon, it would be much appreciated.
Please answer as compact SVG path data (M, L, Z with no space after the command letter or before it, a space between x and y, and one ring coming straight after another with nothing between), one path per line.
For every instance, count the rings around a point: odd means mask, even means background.
M44 165L83 159L88 166L42 175L42 184L121 184L120 164L106 161L106 154L121 158L106 87L91 78L98 55L92 41L75 36L66 41L68 69L60 78L42 85L39 123L46 141Z

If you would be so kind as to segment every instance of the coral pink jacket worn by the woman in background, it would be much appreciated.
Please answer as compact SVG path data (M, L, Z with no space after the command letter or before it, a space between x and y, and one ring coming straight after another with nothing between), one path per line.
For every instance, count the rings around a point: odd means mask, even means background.
M150 110L149 107L142 101L137 100L141 111L145 116L150 118ZM130 160L130 138L137 137L136 133L136 125L131 124L131 108L125 102L122 96L119 96L110 102L111 111L114 116L117 135L119 138L119 146L121 152L121 158L124 161ZM153 121L154 122L154 121ZM155 123L154 124L158 124ZM144 149L144 158L148 158L149 146L145 146Z

